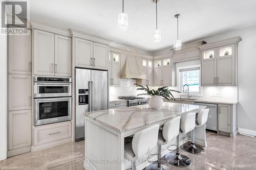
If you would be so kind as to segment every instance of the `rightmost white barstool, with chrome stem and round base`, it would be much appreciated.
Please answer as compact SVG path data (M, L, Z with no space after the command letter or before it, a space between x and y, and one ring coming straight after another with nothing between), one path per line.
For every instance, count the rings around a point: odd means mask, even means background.
M203 126L208 118L208 113L209 113L209 109L204 109L202 111L200 111L197 114L197 119L196 119L196 128ZM191 154L203 154L204 153L204 149L202 147L200 147L198 144L195 144L195 135L194 135L194 129L193 131L191 131L191 142L188 141L184 144L181 145L181 148L186 151L189 152Z

